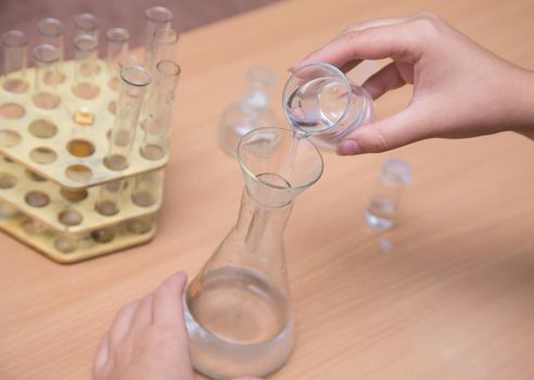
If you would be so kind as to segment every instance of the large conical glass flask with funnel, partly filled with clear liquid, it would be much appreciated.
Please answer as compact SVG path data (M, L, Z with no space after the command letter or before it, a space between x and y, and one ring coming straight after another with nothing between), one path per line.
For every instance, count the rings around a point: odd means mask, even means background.
M322 157L293 131L258 128L238 145L245 188L236 227L190 283L185 315L193 366L215 378L265 377L294 343L283 231Z

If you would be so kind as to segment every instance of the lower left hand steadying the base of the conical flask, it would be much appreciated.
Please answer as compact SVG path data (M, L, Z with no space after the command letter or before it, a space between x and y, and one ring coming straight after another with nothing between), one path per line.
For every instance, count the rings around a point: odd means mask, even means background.
M94 380L194 379L181 307L186 280L180 271L117 314L100 342Z

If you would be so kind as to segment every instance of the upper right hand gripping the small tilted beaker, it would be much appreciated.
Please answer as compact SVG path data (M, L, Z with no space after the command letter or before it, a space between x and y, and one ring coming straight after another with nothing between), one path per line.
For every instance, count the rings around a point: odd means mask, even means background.
M385 58L393 62L364 87L377 99L412 84L410 103L397 114L357 128L339 143L339 154L503 130L534 139L534 73L500 59L434 14L356 24L291 69L328 62L347 72L363 60Z

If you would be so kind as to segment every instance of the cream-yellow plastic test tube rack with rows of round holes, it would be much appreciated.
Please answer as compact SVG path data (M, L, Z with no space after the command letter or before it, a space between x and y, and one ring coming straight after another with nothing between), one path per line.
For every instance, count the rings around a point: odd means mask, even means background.
M61 263L150 241L168 161L166 152L142 154L138 126L128 166L113 170L105 165L116 78L106 62L97 60L98 91L73 88L74 64L61 65L56 104L47 97L35 99L29 79L35 68L26 68L21 77L27 80L17 84L0 79L0 229ZM157 176L158 188L143 192L143 176L149 181ZM120 203L116 212L105 213L98 206L99 193L114 183L120 187Z

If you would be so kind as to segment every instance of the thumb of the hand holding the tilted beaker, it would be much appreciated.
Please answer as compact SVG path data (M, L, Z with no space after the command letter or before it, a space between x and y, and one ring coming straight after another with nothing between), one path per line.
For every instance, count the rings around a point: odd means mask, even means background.
M379 153L433 137L430 109L411 104L393 116L364 125L338 144L338 154Z

